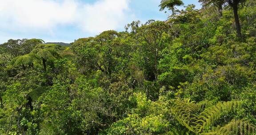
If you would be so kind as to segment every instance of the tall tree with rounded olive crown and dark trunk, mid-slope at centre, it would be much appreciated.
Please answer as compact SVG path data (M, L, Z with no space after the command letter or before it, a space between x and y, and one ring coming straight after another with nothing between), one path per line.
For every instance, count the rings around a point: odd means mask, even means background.
M146 78L156 80L158 73L158 61L162 58L161 51L166 48L166 35L168 24L160 21L149 20L138 28L136 37L141 44L140 59L137 60L139 67L144 69ZM140 61L140 62L138 62Z

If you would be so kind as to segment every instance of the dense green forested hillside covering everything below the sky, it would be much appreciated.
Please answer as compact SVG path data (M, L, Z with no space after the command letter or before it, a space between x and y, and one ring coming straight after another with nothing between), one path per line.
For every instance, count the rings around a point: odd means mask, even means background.
M1 44L0 135L256 135L256 0L199 2L71 46Z

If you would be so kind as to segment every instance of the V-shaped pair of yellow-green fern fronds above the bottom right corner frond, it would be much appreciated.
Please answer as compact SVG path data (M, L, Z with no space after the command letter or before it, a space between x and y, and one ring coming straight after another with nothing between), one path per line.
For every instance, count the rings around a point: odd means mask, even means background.
M172 110L182 126L191 132L200 134L211 129L216 120L220 119L221 116L236 112L241 108L240 101L220 102L209 107L210 105L211 103L208 101L192 103L189 100L176 99L176 105L174 105ZM220 127L216 127L215 129L225 131L225 129L221 129ZM209 133L209 135L215 134Z

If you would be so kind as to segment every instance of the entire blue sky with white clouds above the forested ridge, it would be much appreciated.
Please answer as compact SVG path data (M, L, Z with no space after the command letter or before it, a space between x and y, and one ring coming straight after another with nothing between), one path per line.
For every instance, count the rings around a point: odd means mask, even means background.
M166 20L161 0L0 0L0 44L9 39L71 43L106 30L124 31L133 20ZM185 5L198 0L183 0ZM178 7L183 8L183 7Z

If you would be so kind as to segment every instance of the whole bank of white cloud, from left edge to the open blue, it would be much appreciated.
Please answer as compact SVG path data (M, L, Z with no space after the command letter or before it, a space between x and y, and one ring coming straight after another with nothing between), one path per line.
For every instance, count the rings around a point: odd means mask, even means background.
M58 25L71 25L98 33L123 28L131 17L128 5L129 0L0 0L0 29L52 33Z

